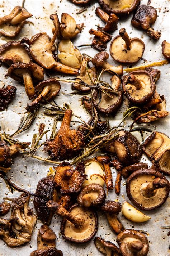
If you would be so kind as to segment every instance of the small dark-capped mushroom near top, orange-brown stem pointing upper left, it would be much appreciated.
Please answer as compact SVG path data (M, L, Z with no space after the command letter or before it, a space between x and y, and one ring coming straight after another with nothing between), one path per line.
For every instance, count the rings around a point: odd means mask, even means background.
M112 33L117 30L119 18L114 13L110 13L110 15L108 15L100 7L96 8L95 13L106 23L105 27L103 28L104 31Z

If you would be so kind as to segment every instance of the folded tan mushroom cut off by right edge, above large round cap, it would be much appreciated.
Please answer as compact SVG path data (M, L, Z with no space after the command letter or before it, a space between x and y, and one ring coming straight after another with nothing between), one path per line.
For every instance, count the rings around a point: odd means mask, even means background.
M170 175L170 138L154 131L143 143L143 151L162 172Z

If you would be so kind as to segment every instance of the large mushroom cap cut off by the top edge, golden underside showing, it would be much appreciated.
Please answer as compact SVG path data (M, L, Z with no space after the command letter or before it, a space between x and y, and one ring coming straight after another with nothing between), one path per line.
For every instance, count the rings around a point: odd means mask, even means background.
M98 0L98 2L108 14L127 15L137 8L140 0Z

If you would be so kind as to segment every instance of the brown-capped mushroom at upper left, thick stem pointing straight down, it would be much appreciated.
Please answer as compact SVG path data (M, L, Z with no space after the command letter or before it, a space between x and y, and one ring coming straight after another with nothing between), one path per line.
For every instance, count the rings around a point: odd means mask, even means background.
M8 68L8 75L16 81L24 81L25 92L29 99L36 96L32 78L39 81L44 79L43 68L33 62L12 64Z

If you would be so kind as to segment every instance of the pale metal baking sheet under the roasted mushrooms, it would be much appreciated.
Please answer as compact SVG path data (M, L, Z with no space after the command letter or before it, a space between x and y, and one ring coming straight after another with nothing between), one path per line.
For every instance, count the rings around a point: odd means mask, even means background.
M8 14L16 5L21 5L22 0L0 0L0 16L4 16ZM147 4L147 0L142 0L141 4ZM131 18L132 14L128 16L127 19L121 19L118 23L118 30L122 27L125 27L127 32L130 34L131 37L139 37L145 42L145 52L143 54L143 58L148 62L155 62L159 60L164 60L164 57L161 52L161 42L163 40L170 41L170 29L169 29L169 21L170 16L168 12L169 1L166 0L152 0L151 5L154 6L158 11L158 17L154 24L155 30L161 30L161 37L158 41L151 41L149 37L146 35L145 32L142 30L137 30L136 28L131 26ZM58 14L59 18L61 17L62 12L67 12L72 15L77 23L84 22L85 26L80 35L76 37L76 39L72 40L75 46L81 44L88 44L91 43L91 36L88 31L90 28L95 29L95 25L104 26L104 23L101 21L99 17L95 15L95 9L98 7L98 3L91 3L90 7L87 7L87 10L81 14L76 14L81 7L75 6L70 1L67 0L26 0L25 1L25 8L33 14L33 17L29 18L29 21L34 23L34 26L29 23L26 24L19 34L16 37L16 40L22 39L22 37L30 38L32 35L39 33L39 32L47 32L49 36L52 36L52 27L53 23L49 19L49 15L52 13ZM118 30L115 31L112 36L118 35ZM6 40L4 37L0 37L0 44L3 44L9 40ZM107 51L109 52L110 42L107 45ZM92 49L90 46L85 48L80 48L81 53L86 53L91 56L94 56L97 51ZM116 63L110 57L109 62L111 64ZM143 64L143 61L140 60L136 66L140 66ZM145 63L146 64L146 63ZM165 95L167 100L167 110L170 111L170 89L169 89L169 65L158 67L161 70L161 77L157 82L157 90L161 95ZM1 126L5 128L6 133L12 134L18 127L20 118L24 116L25 106L29 102L27 96L25 95L23 85L19 84L18 82L12 80L11 78L4 78L6 73L6 68L3 66L0 68L0 87L5 85L14 85L17 87L16 97L13 102L9 105L6 111L0 112L0 123ZM54 74L57 77L63 77L62 75ZM110 76L108 75L108 79ZM62 92L70 93L71 84L62 83L62 89L60 91L59 97L57 97L56 101L59 105L63 105L63 102L67 102L70 105L70 108L76 113L77 115L81 116L85 121L88 121L90 115L85 111L84 107L81 104L81 95L63 95ZM110 127L116 125L122 119L123 109L126 107L127 101L124 101L124 105L121 110L118 111L115 117L110 117ZM104 116L103 116L104 118ZM72 120L76 120L72 118ZM34 121L33 125L30 127L29 130L25 131L24 133L15 136L20 141L31 141L32 136L34 133L38 132L38 125L40 122L45 123L46 130L52 129L53 125L53 118L44 116L42 114L42 109L39 111L39 114ZM127 120L127 128L128 124L132 123L129 119ZM143 125L145 126L145 125ZM147 125L146 125L147 126ZM159 122L154 122L153 124L149 125L149 128L152 130L157 130L169 134L169 126L170 126L170 117L166 117ZM57 124L57 129L60 127L60 122ZM72 127L74 127L74 123L72 123ZM147 126L148 127L148 126ZM51 131L50 131L51 132ZM48 133L48 136L50 135ZM141 141L140 136L138 133L134 133L135 136ZM148 133L144 133L145 136ZM37 155L47 157L47 154L43 152L43 148L41 148ZM148 159L143 156L141 159L142 162L148 162L149 166L151 163ZM30 190L31 192L35 192L38 180L46 176L49 167L53 166L50 163L38 161L33 158L25 158L22 156L17 156L14 160L14 165L11 167L11 170L8 172L10 178L19 186L22 186L25 189ZM115 181L116 172L113 168L113 180ZM121 194L117 196L114 191L109 192L108 199L119 199L119 202L128 201L126 196L126 186L123 186L124 179L121 182ZM18 196L19 193L15 192L11 194L6 188L6 185L2 179L0 179L0 199L2 201L3 197L15 197ZM30 201L30 207L33 207L33 198ZM129 201L128 201L129 202ZM170 251L168 251L169 242L167 236L167 229L161 229L160 226L169 226L168 217L169 217L169 207L168 207L168 200L163 205L163 207L154 210L154 211L145 211L145 213L151 216L151 219L147 221L147 223L132 223L131 221L126 220L123 215L118 214L119 219L122 221L123 225L127 229L142 229L149 233L148 241L150 244L150 251L148 253L149 256L168 256ZM144 212L144 211L143 211ZM4 217L8 217L8 215ZM105 238L116 244L116 235L110 230L110 227L105 219L104 214L99 213L99 228L96 235ZM57 235L56 240L56 247L62 250L64 256L84 256L84 255L101 255L99 251L95 248L93 240L87 244L76 245L69 242L66 242L60 237L60 217L54 216L52 219L51 227ZM30 243L27 243L25 246L21 246L18 248L9 248L6 244L0 240L0 255L16 255L16 256L28 256L30 252L37 249L37 233L42 225L41 221L37 221L36 227L34 229L32 240Z

